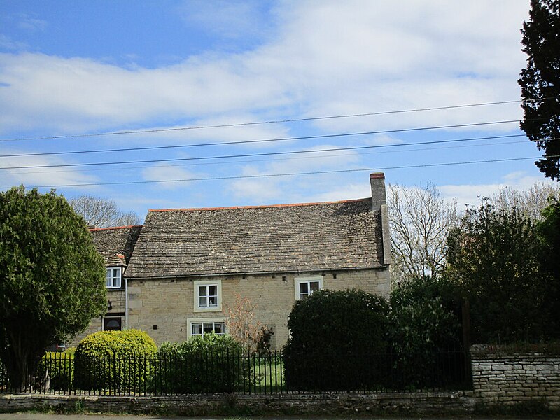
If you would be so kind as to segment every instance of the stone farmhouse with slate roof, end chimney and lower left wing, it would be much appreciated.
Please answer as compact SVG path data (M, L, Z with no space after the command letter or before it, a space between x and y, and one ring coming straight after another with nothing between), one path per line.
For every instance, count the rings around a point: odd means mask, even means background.
M258 207L149 210L142 226L92 229L105 258L107 313L98 330L139 328L155 342L227 333L235 295L288 339L295 300L321 288L388 296L391 263L383 173L360 200ZM336 333L336 332L333 332Z

